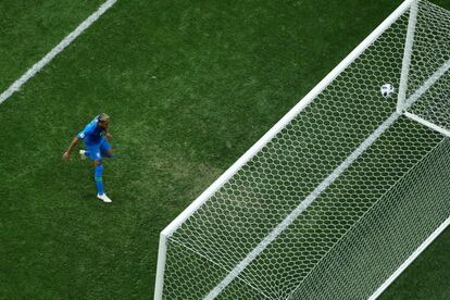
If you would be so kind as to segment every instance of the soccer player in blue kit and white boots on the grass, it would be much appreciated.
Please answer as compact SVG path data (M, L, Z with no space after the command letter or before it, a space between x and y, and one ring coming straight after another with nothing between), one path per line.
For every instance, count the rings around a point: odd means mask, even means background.
M110 116L105 113L101 113L96 116L83 132L80 132L68 146L67 151L64 152L63 159L68 160L72 150L78 143L80 139L85 141L86 150L79 150L79 157L85 160L90 158L95 167L93 178L97 185L97 198L103 202L110 203L112 200L104 193L103 190L103 163L102 158L112 158L113 151L108 140L112 139L111 134L108 132L110 125Z

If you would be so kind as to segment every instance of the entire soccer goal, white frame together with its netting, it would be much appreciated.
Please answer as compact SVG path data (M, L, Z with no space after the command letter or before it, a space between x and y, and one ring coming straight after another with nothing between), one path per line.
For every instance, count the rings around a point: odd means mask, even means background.
M161 233L155 299L380 295L450 222L449 32L403 2Z

